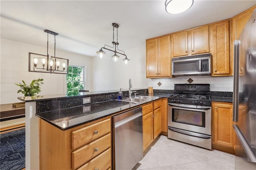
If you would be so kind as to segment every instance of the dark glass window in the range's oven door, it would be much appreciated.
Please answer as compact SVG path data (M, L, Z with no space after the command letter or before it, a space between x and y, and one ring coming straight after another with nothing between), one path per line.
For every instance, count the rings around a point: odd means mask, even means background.
M172 108L172 122L205 127L205 112Z

